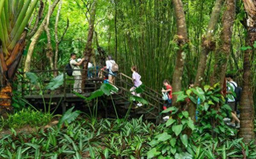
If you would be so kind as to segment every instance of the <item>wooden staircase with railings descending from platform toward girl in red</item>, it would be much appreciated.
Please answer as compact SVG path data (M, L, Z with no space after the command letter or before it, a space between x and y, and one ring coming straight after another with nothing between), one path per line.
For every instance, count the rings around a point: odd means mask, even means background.
M119 73L116 76L115 86L119 89L118 93L108 97L109 100L113 99L118 115L125 116L130 110L129 117L140 117L143 115L143 119L151 122L160 122L160 112L163 105L162 95L145 87L141 97L148 101L147 105L137 106L136 102L130 100L131 92L130 88L133 86L132 79L125 74ZM112 99L111 99L112 98Z

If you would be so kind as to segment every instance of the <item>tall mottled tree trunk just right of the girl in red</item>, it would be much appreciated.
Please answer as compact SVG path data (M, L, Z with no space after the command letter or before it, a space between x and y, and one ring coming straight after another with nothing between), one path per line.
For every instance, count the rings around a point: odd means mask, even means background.
M186 20L185 14L183 11L183 4L181 0L173 0L174 11L175 11L175 19L176 19L176 26L177 26L177 41L180 47L179 51L177 52L177 59L175 63L175 69L173 73L173 80L172 80L172 91L178 92L181 91L181 81L183 75L183 68L184 68L184 61L186 59L186 51L183 50L184 44L187 42L187 28L186 28ZM172 98L173 103L175 104L177 101L177 95L174 94Z

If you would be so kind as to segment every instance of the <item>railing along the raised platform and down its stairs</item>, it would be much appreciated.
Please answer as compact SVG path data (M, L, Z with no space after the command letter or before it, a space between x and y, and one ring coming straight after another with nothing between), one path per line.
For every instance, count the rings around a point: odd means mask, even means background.
M67 94L71 94L72 93L72 89L76 89L73 88L73 77L70 77L66 74L66 69L59 69L59 70L44 70L44 71L30 71L32 73L37 74L37 76L40 79L40 86L38 85L33 85L30 80L28 78L25 78L22 80L21 84L21 92L22 95L41 95L41 94L49 94L49 90L45 89L46 85L51 81L51 79L53 78L53 72L58 71L58 72L64 72L63 76L64 76L64 82L63 85L61 85L59 88L56 88L54 91L59 93L59 94L64 94L64 100L66 100L67 98ZM86 72L90 72L90 76L91 77L87 77L85 79L85 84L86 85L82 85L81 89L84 90L87 93L91 93L93 91L96 91L97 89L100 88L100 85L103 82L103 78L99 78L98 74L100 73L100 71L102 71L101 73L107 73L104 70L96 70L96 69L79 69L79 70L73 70L73 71L86 71ZM25 74L24 72L20 72L20 74ZM115 76L116 78L116 82L115 85L117 88L119 88L119 90L121 92L119 92L119 94L116 94L117 96L123 97L124 100L126 101L130 101L128 99L128 97L131 96L131 92L129 91L131 87L133 87L132 84L132 79L131 77L119 73ZM81 79L83 80L83 79ZM158 92L152 90L151 88L145 86L143 87L144 90L141 93L141 97L145 100L148 101L148 108L154 108L155 111L157 111L157 116L154 113L148 112L150 114L153 114L156 117L160 118L160 107L161 105L163 105L163 99L161 98L162 95L159 94ZM59 92L58 92L59 91ZM120 94L121 93L121 94ZM142 108L144 109L144 108ZM144 109L145 111L147 111L146 109Z

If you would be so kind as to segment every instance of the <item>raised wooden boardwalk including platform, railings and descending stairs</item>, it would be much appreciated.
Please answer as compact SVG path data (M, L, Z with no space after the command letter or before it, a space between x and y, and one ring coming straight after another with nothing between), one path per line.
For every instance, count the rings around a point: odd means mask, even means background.
M53 71L51 70L43 71L43 73L47 74L52 74L52 72ZM42 72L39 71L36 73ZM44 75L41 76L44 77ZM71 93L73 90L73 79L66 76L67 75L64 75L63 85L60 88L55 89L55 91L47 91L47 89L41 88L39 89L35 85L32 85L31 82L29 82L28 80L24 80L22 85L26 85L26 88L22 88L23 97L29 103L32 103L32 105L37 105L36 103L39 103L41 105L42 103L50 102L55 104L61 103L63 113L66 111L66 107L70 103L84 103L84 105L86 105L86 102L84 102L83 98ZM44 79L44 83L41 85L47 85L47 83L49 83L50 81L50 79ZM100 88L102 82L103 79L101 78L87 78L86 85L82 87L82 89L85 90L86 93L81 95L84 97L89 97L93 91L96 91ZM130 113L131 117L138 117L144 115L145 119L157 120L158 122L160 121L160 108L163 105L161 94L157 93L151 88L145 87L145 90L143 93L141 93L141 95L144 99L148 101L148 105L143 105L142 107L137 108L136 102L132 102L130 100L131 92L129 91L129 89L133 86L131 84L131 78L125 74L120 73L116 76L115 86L119 88L118 93L111 95L111 97L103 96L102 98L100 98L100 100L104 100L105 102L107 102L107 107L105 106L104 108L106 114L107 112L114 112L114 110L112 110L113 105L117 107L119 114L126 114L126 112L132 106Z

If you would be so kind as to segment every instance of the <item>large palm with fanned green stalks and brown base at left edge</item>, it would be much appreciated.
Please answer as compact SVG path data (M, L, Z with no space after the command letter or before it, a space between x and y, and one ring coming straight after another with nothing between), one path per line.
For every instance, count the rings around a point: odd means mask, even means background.
M12 110L12 80L38 0L0 0L0 115Z

